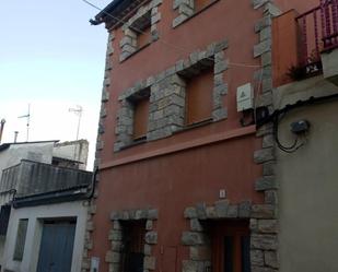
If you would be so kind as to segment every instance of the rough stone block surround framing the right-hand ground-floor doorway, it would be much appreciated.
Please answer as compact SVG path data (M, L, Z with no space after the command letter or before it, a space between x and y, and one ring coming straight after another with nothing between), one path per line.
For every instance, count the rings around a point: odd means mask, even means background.
M234 204L229 200L217 201L213 205L198 203L185 209L185 218L190 222L190 229L182 235L182 244L189 247L189 259L183 261L183 272L207 271L211 265L211 246L205 221L217 223L218 220L247 218L252 230L252 271L272 272L277 267L275 250L277 250L276 209L268 204L252 204L243 201ZM266 257L265 257L266 256ZM267 268L259 268L266 258Z

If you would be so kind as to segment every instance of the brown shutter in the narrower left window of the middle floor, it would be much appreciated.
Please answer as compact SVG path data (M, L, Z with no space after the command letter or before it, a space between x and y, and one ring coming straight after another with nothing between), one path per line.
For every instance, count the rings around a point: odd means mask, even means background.
M133 111L133 140L147 137L149 115L149 97L135 103Z

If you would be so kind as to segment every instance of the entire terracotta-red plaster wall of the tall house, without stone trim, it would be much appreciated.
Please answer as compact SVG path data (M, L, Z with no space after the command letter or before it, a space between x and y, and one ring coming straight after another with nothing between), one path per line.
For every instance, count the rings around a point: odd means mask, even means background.
M268 204L263 206L267 209L264 210L265 215L253 217L256 225L250 227L258 233L253 241L258 245L258 255L267 252L277 256L276 216L273 212L269 214L269 209L275 209L277 189L271 166L275 158L273 138L268 128L261 131L256 131L254 126L242 128L242 114L236 110L236 88L248 82L254 85L256 96L265 92L257 100L272 109L269 105L271 17L269 12L264 17L260 9L265 8L266 1L254 2L261 4L254 9L252 1L214 1L205 11L173 28L177 12L173 10L173 1L163 1L158 8L161 13L161 20L156 23L159 39L123 62L119 43L125 34L121 28L110 34L114 36L109 40L112 54L108 56L112 70L106 71L108 98L105 98L102 115L104 133L100 135L104 145L98 146L98 198L92 218L93 243L89 253L101 258L101 271L108 271L104 259L112 248L108 240L113 227L112 211L133 209L159 211L153 226L158 234L156 245L152 247L152 256L156 259L155 271L164 271L166 263L173 261L176 264L170 271L182 271L183 261L189 259L189 247L182 244L182 234L189 229L184 211L198 203L213 205L222 200L220 189L225 189L226 199L232 204L243 201ZM288 4L281 3L283 9ZM226 118L114 152L116 117L121 107L119 96L140 80L160 74L177 61L189 58L191 52L224 39L229 42L223 50L229 68L223 72L222 80L228 84L228 93L221 99L228 110ZM260 66L263 70L259 70ZM257 187L257 180L263 176ZM259 233L258 223L263 218L259 216L266 216L264 218L273 225L267 230L269 235ZM260 238L263 244L268 239L271 248L259 245ZM261 263L253 265L278 268L278 264L267 264L263 257L260 259Z

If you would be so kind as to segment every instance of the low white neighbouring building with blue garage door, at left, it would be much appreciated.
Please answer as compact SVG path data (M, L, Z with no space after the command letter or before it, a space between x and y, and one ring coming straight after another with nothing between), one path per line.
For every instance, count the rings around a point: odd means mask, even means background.
M92 173L88 141L0 145L1 272L80 272Z

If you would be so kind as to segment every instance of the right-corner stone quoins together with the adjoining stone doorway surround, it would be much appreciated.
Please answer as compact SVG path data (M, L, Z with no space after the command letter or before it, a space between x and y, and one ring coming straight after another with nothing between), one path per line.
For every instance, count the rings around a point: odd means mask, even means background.
M256 106L266 106L273 111L272 74L271 74L271 22L280 14L270 0L253 0L255 10L263 10L263 19L255 24L259 44L254 47L254 58L260 58L261 68L255 72L255 79L261 83ZM249 201L230 203L218 201L213 205L198 203L185 210L185 217L190 221L190 230L184 232L182 244L189 247L189 259L183 261L183 272L205 271L210 265L208 253L209 240L202 222L206 220L247 218L250 228L250 263L253 272L278 272L278 193L279 188L275 173L275 140L270 125L261 127L257 137L263 145L254 154L254 162L263 165L263 177L256 180L256 191L265 194L264 204L252 204ZM207 248L207 249L206 249ZM206 253L207 252L207 253Z

